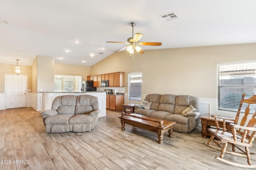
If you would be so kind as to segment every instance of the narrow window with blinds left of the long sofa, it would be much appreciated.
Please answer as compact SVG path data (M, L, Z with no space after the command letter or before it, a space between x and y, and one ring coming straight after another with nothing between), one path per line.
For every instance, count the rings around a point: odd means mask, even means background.
M133 72L128 74L129 100L141 101L141 76L141 72Z

